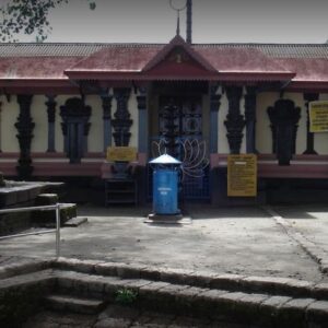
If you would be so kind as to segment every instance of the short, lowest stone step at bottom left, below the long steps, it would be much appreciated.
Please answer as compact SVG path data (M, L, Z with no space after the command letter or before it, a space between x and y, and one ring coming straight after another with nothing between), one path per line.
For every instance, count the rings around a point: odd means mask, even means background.
M97 314L105 305L102 300L56 294L48 295L45 298L45 304L48 309L80 314Z

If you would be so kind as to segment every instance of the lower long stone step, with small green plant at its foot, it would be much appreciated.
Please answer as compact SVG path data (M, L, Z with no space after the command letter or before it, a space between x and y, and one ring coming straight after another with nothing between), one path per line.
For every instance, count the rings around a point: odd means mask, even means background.
M57 271L57 289L116 302L117 291L133 291L130 306L171 315L236 321L259 327L327 328L328 302L268 293L232 292L144 279Z

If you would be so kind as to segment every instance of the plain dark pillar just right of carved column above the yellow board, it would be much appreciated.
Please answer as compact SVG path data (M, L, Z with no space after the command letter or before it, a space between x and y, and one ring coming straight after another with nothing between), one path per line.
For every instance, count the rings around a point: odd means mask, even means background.
M256 86L247 86L245 95L246 153L256 154Z

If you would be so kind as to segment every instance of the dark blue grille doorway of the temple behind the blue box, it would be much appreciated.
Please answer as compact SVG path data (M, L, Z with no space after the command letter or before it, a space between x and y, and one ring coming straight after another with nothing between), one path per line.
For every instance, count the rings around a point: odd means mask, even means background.
M184 163L184 199L209 199L209 155L203 133L202 95L160 95L157 104L157 129L153 131L153 136L154 132L156 134L152 138L151 157L166 152L180 160Z

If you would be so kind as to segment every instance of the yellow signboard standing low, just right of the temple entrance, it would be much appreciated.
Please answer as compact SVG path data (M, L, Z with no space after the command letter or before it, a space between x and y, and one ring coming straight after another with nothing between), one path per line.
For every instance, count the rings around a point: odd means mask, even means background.
M241 154L227 156L227 196L257 196L257 156Z

